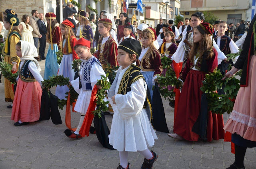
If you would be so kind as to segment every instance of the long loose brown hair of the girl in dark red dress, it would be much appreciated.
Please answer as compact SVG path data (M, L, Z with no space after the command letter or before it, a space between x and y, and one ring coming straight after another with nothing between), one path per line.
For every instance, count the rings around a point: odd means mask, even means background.
M192 49L189 53L189 59L191 62L194 61L194 56L199 52L199 55L202 56L204 53L206 54L206 60L209 60L213 57L213 51L212 48L212 39L211 37L204 31L204 29L201 28L201 26L196 26L198 31L202 34L203 39L202 42L194 42Z

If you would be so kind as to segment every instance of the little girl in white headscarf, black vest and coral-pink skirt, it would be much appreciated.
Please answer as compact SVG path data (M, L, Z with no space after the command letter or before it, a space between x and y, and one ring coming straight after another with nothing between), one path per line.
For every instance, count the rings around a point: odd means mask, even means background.
M12 117L14 126L26 125L39 120L42 81L40 66L35 57L38 53L34 44L19 41L16 44L16 54L20 58L18 83L14 95Z

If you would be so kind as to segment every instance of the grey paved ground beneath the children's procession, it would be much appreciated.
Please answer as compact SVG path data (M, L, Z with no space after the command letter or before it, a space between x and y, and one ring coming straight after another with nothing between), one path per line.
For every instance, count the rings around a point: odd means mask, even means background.
M40 62L42 73L44 61ZM55 93L55 92L53 92ZM10 103L4 101L4 85L0 83L0 169L113 169L119 163L116 150L109 150L98 142L96 135L81 140L69 140L64 135L65 108L60 110L62 123L34 122L15 127L10 120ZM164 101L164 100L163 100ZM173 130L174 109L164 101L166 120ZM80 115L72 113L72 126L78 125ZM224 115L224 122L228 115ZM110 128L112 115L106 116ZM210 143L178 141L166 133L156 132L158 140L152 150L159 157L154 169L226 169L234 162L230 143L223 140ZM143 157L129 153L131 169L140 169ZM256 149L248 148L245 157L246 169L256 169Z

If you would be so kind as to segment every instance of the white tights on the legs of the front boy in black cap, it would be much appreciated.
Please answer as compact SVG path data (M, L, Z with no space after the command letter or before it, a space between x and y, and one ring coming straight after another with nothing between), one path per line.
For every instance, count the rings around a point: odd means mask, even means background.
M146 159L152 159L153 154L149 149L145 149L143 151L138 151L141 155L143 155ZM128 151L119 151L120 165L126 168L128 164Z

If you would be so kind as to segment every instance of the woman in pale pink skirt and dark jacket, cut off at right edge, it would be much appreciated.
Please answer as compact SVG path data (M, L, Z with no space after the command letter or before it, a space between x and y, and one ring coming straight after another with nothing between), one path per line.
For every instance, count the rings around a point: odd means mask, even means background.
M256 147L256 15L252 19L243 51L234 67L224 75L232 77L242 69L240 89L236 102L224 130L232 133L232 142L235 144L235 161L227 169L244 169L244 155L247 147Z

